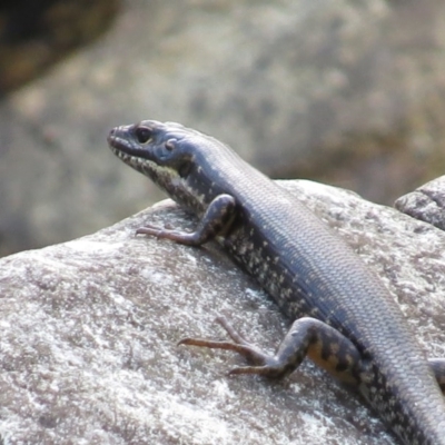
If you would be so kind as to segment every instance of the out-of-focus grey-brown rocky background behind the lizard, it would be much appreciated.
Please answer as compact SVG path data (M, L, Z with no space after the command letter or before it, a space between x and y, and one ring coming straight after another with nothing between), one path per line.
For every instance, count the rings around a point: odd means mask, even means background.
M445 171L445 2L3 1L0 93L0 255L161 199L106 141L148 118L390 204Z

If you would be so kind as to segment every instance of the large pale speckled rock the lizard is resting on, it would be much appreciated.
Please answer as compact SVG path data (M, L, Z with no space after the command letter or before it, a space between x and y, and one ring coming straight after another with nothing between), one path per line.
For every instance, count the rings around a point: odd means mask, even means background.
M346 190L280 181L374 268L429 356L445 356L445 234ZM214 244L136 237L195 220L165 201L97 234L0 260L4 443L393 444L359 398L309 363L284 382L177 346L226 338L226 315L274 350L289 320ZM359 297L359 296L357 296Z

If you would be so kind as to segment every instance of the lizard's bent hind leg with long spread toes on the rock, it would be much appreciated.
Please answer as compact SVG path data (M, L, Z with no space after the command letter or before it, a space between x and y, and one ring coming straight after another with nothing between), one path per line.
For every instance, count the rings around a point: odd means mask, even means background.
M349 339L320 320L304 317L294 322L275 355L267 355L249 344L226 318L218 317L217 322L233 342L185 338L179 344L234 350L243 355L250 366L234 368L229 372L230 375L257 374L283 378L293 373L308 356L340 380L354 385L358 383L354 369L359 368L359 352Z

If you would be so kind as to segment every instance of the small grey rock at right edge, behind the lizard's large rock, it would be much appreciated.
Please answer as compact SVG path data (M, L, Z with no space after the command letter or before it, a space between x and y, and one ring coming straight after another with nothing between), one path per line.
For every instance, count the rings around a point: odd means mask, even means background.
M445 230L445 176L441 176L395 201L406 215Z

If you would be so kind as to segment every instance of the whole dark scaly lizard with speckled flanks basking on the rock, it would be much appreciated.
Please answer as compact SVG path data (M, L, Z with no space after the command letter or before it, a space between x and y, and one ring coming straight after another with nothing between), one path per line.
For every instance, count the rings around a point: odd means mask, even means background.
M137 234L216 240L295 320L273 356L225 318L231 342L180 344L235 350L249 364L230 374L275 378L307 356L356 387L400 443L445 445L445 359L426 358L389 290L325 222L230 147L180 123L119 126L108 144L199 218L194 231L147 225Z

